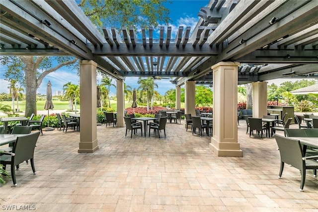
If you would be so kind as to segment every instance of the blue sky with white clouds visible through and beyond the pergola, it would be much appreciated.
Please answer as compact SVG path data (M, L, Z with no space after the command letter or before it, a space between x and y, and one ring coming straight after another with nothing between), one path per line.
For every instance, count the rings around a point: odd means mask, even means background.
M179 26L190 26L191 29L194 29L196 23L199 20L198 12L200 8L206 6L209 0L171 0L171 3L166 3L166 7L170 10L170 19L171 23L169 26L172 27L172 30L176 31ZM165 26L166 27L166 26ZM156 35L154 35L155 37ZM171 37L174 37L175 34L172 34ZM0 66L0 93L8 93L9 90L8 82L4 80L3 74L5 72L5 67ZM101 76L97 77L97 84L100 83ZM70 70L67 67L62 67L59 70L50 73L47 75L42 84L40 85L37 93L46 94L46 85L48 81L51 81L53 95L57 91L62 91L63 85L72 82L73 84L79 83L79 76L77 75L76 70ZM132 88L138 88L137 84L138 78L129 77L125 79L125 83ZM113 84L116 85L116 81L113 80ZM158 92L160 95L164 95L169 89L174 89L175 86L172 85L169 80L158 80L157 84L159 85ZM116 94L116 89L111 87L111 93Z

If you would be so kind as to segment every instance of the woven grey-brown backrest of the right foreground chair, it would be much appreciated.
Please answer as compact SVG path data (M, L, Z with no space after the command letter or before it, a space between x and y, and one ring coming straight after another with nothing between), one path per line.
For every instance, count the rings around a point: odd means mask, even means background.
M303 149L299 140L275 134L276 143L279 148L280 160L299 170L306 169Z

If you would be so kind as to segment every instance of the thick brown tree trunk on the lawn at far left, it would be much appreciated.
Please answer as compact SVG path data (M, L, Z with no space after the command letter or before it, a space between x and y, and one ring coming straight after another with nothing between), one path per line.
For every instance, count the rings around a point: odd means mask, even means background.
M25 64L25 117L30 117L32 113L36 112L36 68L33 64Z

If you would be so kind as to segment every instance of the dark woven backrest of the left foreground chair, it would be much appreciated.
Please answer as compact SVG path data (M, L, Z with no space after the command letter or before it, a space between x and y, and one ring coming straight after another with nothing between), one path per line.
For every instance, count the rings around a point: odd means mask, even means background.
M40 131L33 132L27 135L18 136L14 142L12 153L12 163L14 166L22 163L23 161L33 158L35 144L40 135Z

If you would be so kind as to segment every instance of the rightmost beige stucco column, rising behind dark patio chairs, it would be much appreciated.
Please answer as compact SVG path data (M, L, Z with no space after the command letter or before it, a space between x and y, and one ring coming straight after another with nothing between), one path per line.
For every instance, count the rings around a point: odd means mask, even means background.
M262 118L267 115L267 82L254 82L253 86L253 117Z

